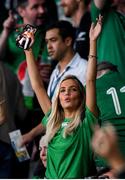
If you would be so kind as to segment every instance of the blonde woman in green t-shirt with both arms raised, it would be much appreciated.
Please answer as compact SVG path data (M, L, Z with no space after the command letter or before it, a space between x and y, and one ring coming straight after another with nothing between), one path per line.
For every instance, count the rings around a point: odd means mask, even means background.
M84 178L94 171L90 147L92 127L98 121L96 106L96 39L101 31L102 17L90 29L90 55L87 68L86 97L79 80L68 76L60 83L52 103L46 94L34 63L32 51L25 51L32 87L41 108L46 113L42 120L47 145L46 178Z

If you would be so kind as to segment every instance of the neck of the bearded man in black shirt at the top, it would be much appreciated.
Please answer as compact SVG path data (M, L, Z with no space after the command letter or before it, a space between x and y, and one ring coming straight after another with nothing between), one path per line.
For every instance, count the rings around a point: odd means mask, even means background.
M86 13L87 8L84 5L79 5L78 10L73 14L72 20L73 20L73 26L78 27L80 25L81 19L83 15Z

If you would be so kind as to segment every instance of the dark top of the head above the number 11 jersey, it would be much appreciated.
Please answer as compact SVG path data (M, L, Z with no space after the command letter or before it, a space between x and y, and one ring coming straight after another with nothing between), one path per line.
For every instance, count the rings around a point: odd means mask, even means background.
M117 66L108 61L99 62L97 64L97 71L101 71L104 69L110 69L111 71L118 71Z

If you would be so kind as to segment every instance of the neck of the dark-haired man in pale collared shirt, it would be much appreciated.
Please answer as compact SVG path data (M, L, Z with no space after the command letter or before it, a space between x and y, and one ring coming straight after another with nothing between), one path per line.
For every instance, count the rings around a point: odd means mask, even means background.
M59 68L60 68L60 73L65 69L65 67L69 64L69 62L72 60L74 56L74 52L70 52L68 54L66 54L65 57L63 57L63 59L61 59L59 61Z

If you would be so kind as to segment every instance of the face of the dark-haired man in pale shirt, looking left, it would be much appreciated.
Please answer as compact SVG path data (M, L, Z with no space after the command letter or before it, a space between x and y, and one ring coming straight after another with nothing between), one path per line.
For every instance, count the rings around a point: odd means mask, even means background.
M67 45L59 35L59 30L56 28L48 30L45 39L49 56L58 61L63 59L67 51Z

